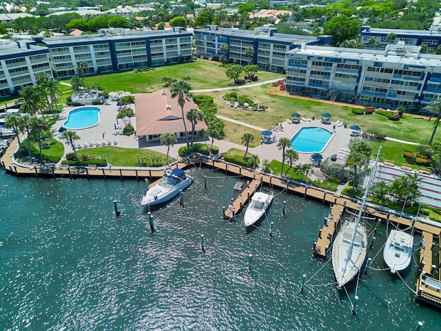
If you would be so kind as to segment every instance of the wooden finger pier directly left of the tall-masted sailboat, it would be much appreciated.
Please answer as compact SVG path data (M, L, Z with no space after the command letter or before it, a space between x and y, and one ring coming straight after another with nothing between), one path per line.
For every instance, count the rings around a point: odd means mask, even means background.
M337 225L340 222L340 218L343 212L343 206L336 203L331 204L329 208L329 215L325 217L323 226L318 230L318 239L313 246L313 254L316 257L326 259L326 254L331 246L332 239L337 229Z

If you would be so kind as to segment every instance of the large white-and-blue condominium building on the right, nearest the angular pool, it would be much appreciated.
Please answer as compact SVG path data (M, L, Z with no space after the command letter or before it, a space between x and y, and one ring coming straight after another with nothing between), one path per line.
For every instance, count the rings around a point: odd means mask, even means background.
M385 51L303 46L287 59L291 93L409 109L441 97L441 56L402 41Z

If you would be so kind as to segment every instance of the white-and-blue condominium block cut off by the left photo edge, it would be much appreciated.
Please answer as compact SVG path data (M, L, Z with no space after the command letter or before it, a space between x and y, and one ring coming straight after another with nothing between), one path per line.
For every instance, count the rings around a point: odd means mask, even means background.
M0 97L37 83L39 72L52 77L48 48L32 45L32 41L0 46Z

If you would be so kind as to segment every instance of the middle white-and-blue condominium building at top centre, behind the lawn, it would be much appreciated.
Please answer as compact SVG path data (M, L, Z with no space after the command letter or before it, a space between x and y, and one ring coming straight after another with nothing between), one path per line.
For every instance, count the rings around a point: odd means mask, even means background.
M272 72L287 70L286 53L301 45L328 45L331 36L308 37L296 34L277 33L277 28L268 26L254 28L254 31L206 26L194 30L196 54L198 57L219 59L222 55L230 62L247 65L256 63L260 68ZM220 46L227 44L228 51ZM247 48L254 50L253 57L247 57Z

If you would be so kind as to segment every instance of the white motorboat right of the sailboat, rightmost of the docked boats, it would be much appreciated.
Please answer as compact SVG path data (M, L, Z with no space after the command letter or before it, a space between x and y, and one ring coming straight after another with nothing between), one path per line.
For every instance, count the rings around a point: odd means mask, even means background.
M413 236L401 230L391 230L384 245L383 259L391 272L404 270L411 263Z

